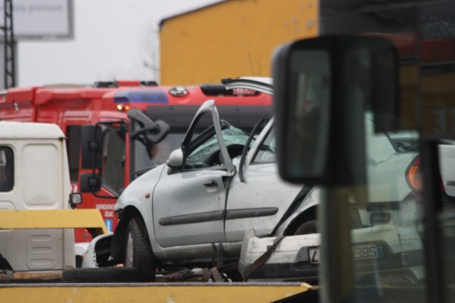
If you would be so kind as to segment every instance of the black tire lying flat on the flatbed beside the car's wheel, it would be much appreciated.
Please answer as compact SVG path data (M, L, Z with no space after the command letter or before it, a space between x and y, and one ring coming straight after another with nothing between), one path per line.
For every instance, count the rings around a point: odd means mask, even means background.
M63 282L149 282L137 268L73 268L63 270Z

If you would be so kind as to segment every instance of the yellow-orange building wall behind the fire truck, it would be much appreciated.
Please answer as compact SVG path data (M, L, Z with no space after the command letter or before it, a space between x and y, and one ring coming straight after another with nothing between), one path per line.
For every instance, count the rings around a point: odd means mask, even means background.
M161 85L271 75L277 45L318 33L316 0L227 0L161 21Z

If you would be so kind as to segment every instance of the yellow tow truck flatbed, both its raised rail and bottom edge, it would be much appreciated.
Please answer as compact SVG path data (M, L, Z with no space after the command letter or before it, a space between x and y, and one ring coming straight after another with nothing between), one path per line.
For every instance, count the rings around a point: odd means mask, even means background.
M95 234L107 232L97 209L2 210L0 222L0 229L85 227ZM68 283L61 282L61 274L13 274L0 279L0 303L251 302L253 298L254 302L293 302L289 298L301 300L301 295L313 298L306 302L316 302L317 297L317 287L301 282Z

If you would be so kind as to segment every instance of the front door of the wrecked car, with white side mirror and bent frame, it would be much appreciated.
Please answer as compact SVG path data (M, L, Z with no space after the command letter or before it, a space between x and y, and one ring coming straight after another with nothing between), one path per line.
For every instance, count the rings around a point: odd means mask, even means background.
M210 118L211 119L207 119ZM208 126L199 133L204 126ZM213 100L203 104L153 194L156 241L162 247L225 241L226 191L235 166Z

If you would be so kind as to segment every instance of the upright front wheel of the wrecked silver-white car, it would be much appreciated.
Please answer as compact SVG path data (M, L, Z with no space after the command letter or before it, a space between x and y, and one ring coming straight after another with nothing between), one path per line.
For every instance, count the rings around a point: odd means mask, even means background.
M144 221L138 217L128 223L124 265L137 268L149 280L155 278L156 259L151 251L149 233Z

